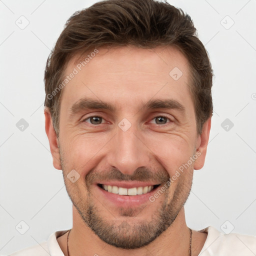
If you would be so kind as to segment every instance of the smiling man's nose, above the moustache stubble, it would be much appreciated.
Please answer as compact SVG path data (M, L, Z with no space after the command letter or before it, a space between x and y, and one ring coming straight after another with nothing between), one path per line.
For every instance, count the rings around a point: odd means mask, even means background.
M126 175L132 175L139 167L148 167L150 160L151 151L146 146L144 136L134 126L131 125L126 131L117 127L107 152L108 165Z

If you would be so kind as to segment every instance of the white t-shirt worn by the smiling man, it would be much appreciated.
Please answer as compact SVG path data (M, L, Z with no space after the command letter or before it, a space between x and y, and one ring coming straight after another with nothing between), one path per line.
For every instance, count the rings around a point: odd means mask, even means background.
M256 255L256 236L237 233L223 234L213 226L208 226L198 231L208 233L198 256ZM58 245L57 237L65 232L67 230L52 233L47 241L14 252L9 256L64 256Z

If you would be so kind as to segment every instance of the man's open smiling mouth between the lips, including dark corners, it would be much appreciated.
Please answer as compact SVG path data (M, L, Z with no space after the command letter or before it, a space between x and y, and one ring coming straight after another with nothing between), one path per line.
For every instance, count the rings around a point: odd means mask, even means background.
M127 196L135 196L141 194L147 194L151 192L153 189L158 187L160 184L148 185L148 186L134 186L134 187L121 187L116 185L107 185L107 184L97 184L101 189L107 191L112 194L119 195L127 195Z

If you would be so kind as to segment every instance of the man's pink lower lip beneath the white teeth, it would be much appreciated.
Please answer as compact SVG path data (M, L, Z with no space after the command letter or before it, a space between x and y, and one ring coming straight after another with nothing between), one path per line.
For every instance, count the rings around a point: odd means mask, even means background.
M149 197L155 193L155 190L158 187L153 188L150 192L146 194L137 194L137 195L120 195L107 192L103 188L100 188L98 185L95 185L96 188L108 201L114 203L118 207L133 207L138 206L149 201Z

